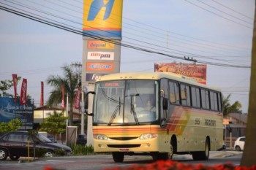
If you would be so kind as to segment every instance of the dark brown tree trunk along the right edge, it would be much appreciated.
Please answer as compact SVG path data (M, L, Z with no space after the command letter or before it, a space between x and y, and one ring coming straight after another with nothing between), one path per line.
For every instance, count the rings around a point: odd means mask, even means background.
M255 2L256 3L256 2ZM256 7L256 5L255 5ZM255 10L256 18L256 10ZM252 166L256 163L256 19L253 26L252 37L252 64L251 64L251 80L249 90L249 109L246 125L246 142L244 153L241 160L241 166Z

